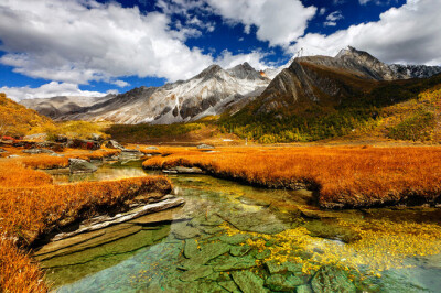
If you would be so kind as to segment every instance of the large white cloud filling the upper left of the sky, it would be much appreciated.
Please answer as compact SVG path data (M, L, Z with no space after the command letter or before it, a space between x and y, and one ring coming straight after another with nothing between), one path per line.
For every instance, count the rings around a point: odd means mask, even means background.
M7 54L0 62L26 76L74 84L129 75L174 80L208 66L209 55L183 43L197 30L170 24L166 14L116 2L3 0L0 50Z

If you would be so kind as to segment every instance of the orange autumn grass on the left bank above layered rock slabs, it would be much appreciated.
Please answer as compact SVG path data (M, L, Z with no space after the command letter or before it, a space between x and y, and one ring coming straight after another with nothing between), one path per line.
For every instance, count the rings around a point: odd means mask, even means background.
M47 290L39 265L18 247L25 248L57 227L126 206L137 195L158 196L171 189L169 180L161 176L54 185L50 175L23 165L44 167L50 159L64 158L0 162L0 292ZM54 161L46 163L54 165Z

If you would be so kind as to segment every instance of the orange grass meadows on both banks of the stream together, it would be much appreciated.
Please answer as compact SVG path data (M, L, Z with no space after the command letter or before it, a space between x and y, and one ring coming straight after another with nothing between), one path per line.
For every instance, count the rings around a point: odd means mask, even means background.
M137 146L149 156L143 163L147 169L198 167L257 186L309 188L315 191L322 208L440 204L440 146L314 144ZM67 158L111 156L115 150L68 150L64 156L22 155L12 148L6 151L20 154L0 159L0 289L7 292L46 290L39 265L19 247L26 248L40 236L103 209L125 206L140 193L154 196L171 189L161 176L54 185L50 175L35 170L65 167Z

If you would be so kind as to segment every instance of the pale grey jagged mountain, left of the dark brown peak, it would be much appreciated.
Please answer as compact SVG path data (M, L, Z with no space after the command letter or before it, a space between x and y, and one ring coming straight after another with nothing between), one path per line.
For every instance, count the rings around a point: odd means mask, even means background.
M187 122L240 109L249 99L259 96L269 83L268 77L261 76L248 63L226 70L212 65L187 80L161 87L139 87L85 107L72 110L64 107L67 111L58 109L57 112L46 112L49 116L56 113L54 118L58 120L161 124ZM54 104L56 100L54 98ZM41 104L35 100L26 101L26 106L41 109Z

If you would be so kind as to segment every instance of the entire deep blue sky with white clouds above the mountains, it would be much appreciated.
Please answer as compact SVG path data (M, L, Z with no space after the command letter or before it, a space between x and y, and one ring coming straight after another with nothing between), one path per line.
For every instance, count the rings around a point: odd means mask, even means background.
M123 93L213 63L280 66L301 47L440 65L439 12L439 0L2 0L0 91Z

